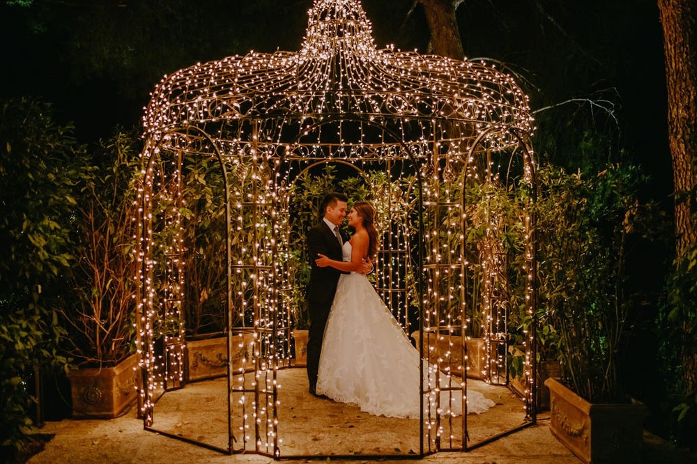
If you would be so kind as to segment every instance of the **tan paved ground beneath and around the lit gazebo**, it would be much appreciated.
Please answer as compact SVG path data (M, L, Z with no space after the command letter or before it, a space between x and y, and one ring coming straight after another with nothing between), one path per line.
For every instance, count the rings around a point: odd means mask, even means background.
M307 394L302 369L279 376L279 438L284 456L307 454L353 454L351 462L373 462L366 454L394 452L404 456L418 449L418 421L365 415L358 408ZM221 389L222 387L222 389ZM468 416L470 446L521 423L520 404L505 390L476 385L497 405L479 417ZM225 384L220 380L188 385L177 395L168 393L155 407L155 424L173 435L224 446L227 437ZM172 392L174 393L174 392ZM222 397L222 400L221 400ZM457 432L457 430L456 430ZM54 434L45 449L28 462L40 463L270 463L258 454L229 456L205 447L146 431L136 408L116 419L63 419L47 422L42 433ZM457 435L457 434L456 434ZM364 456L361 456L364 455ZM645 463L696 463L652 435L645 437ZM383 458L384 463L404 462ZM334 463L342 458L325 458ZM358 461L356 461L358 460ZM300 459L307 462L308 459ZM549 431L549 416L538 416L528 426L467 452L438 453L420 462L454 463L580 463Z

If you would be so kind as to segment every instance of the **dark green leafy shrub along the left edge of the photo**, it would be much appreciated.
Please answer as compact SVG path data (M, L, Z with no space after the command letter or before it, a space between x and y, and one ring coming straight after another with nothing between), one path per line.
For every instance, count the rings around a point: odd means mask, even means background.
M72 180L83 155L70 125L40 100L0 103L0 447L14 453L33 430L27 387L35 369L66 371L57 308L74 263Z

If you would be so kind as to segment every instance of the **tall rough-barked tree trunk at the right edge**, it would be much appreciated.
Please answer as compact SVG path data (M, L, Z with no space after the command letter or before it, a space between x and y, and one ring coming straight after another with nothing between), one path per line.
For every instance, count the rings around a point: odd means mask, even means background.
M675 251L677 259L697 240L694 193L697 180L697 46L696 0L658 0L663 24L668 87L668 141L673 160ZM688 323L689 321L684 321ZM682 364L688 392L697 388L697 353L685 343Z

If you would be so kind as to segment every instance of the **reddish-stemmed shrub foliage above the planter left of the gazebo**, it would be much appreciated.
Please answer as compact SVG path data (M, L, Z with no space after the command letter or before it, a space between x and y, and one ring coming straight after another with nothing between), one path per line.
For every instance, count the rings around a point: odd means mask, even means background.
M114 365L135 349L139 151L137 135L117 128L89 150L75 180L77 263L61 323L70 334L64 347L79 364Z

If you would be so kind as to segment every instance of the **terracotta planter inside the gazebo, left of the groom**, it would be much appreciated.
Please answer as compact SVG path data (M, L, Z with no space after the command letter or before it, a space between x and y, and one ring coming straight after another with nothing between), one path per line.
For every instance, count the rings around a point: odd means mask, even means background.
M253 343L252 333L233 335L232 369L252 366ZM227 376L227 337L187 341L186 361L187 382Z

